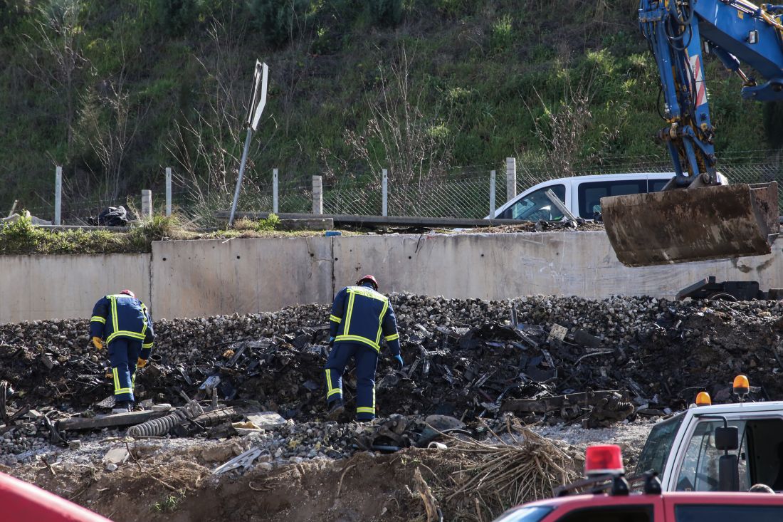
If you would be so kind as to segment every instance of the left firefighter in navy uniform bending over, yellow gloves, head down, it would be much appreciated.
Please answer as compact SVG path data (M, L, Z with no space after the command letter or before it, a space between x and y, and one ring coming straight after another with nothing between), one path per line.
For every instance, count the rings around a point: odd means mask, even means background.
M136 368L143 368L152 352L155 332L146 306L130 290L104 295L92 309L90 337L98 350L109 346L114 382L114 413L133 408Z

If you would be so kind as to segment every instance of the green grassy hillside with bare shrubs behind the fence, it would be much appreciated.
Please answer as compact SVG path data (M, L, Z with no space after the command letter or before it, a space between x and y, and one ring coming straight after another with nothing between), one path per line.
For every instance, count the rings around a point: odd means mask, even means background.
M661 156L657 71L635 0L0 0L0 213L14 199L121 201L175 168L225 198L254 60L269 63L251 183L400 181L453 165ZM722 152L778 147L710 60ZM776 136L776 132L769 132Z

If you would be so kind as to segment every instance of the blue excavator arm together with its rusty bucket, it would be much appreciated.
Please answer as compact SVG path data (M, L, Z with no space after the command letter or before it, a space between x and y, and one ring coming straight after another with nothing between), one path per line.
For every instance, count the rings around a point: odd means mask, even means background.
M742 78L742 96L783 100L783 5L745 0L640 0L655 56L675 176L659 193L601 199L617 258L628 266L760 256L778 237L778 185L721 186L703 52ZM753 78L742 71L752 68ZM687 190L685 190L687 189Z

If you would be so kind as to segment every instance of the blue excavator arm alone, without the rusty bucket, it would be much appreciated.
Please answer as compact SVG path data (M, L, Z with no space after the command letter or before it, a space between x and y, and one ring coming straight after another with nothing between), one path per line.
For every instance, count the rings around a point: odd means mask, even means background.
M715 185L715 132L702 52L709 49L742 78L742 97L783 100L783 5L745 0L641 0L639 24L658 64L676 187ZM759 85L741 62L766 78Z

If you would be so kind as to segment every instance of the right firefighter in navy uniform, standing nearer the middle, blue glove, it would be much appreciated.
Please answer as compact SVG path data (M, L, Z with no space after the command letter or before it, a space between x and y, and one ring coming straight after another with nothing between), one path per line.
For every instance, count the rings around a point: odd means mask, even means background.
M375 418L375 368L381 352L381 337L402 369L397 320L388 297L378 291L375 277L366 275L337 292L329 317L333 345L324 368L327 379L329 418L337 419L343 405L342 375L353 357L356 361L356 420Z

